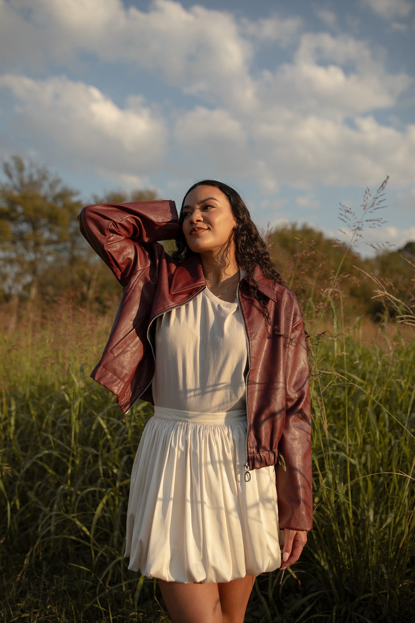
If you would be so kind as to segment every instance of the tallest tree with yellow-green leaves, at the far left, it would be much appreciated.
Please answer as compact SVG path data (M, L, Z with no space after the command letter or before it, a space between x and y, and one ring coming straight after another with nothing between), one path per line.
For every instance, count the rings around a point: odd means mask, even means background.
M1 285L11 298L29 286L29 300L34 300L42 272L73 253L81 204L77 191L32 161L12 156L2 168Z

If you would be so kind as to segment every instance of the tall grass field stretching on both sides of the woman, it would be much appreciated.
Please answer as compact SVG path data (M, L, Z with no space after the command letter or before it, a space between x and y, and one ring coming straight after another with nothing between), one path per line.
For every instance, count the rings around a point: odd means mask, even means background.
M123 559L151 407L124 416L89 378L113 315L29 312L11 332L0 313L0 619L169 621ZM247 622L415 622L415 341L333 319L310 351L314 530L291 570L259 576Z

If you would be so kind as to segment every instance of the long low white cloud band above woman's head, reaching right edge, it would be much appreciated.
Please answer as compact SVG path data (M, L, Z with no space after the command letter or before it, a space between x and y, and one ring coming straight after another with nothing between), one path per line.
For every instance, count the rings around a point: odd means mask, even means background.
M415 125L400 131L368 116L356 117L351 127L280 107L273 120L242 123L226 110L197 107L178 118L174 138L198 174L237 174L256 180L266 193L284 183L376 186L387 174L392 186L413 183ZM317 207L310 194L297 204Z

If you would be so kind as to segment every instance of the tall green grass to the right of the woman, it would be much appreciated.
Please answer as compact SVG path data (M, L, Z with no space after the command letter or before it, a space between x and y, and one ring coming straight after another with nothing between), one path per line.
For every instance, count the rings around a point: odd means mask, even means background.
M314 530L297 579L258 580L259 620L415 617L414 343L343 346L343 361L320 350L312 381Z

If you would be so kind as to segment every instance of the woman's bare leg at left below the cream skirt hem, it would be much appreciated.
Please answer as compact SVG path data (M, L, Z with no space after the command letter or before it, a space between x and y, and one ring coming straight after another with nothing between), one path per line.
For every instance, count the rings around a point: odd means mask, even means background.
M181 584L159 579L159 586L172 623L222 623L218 584Z

